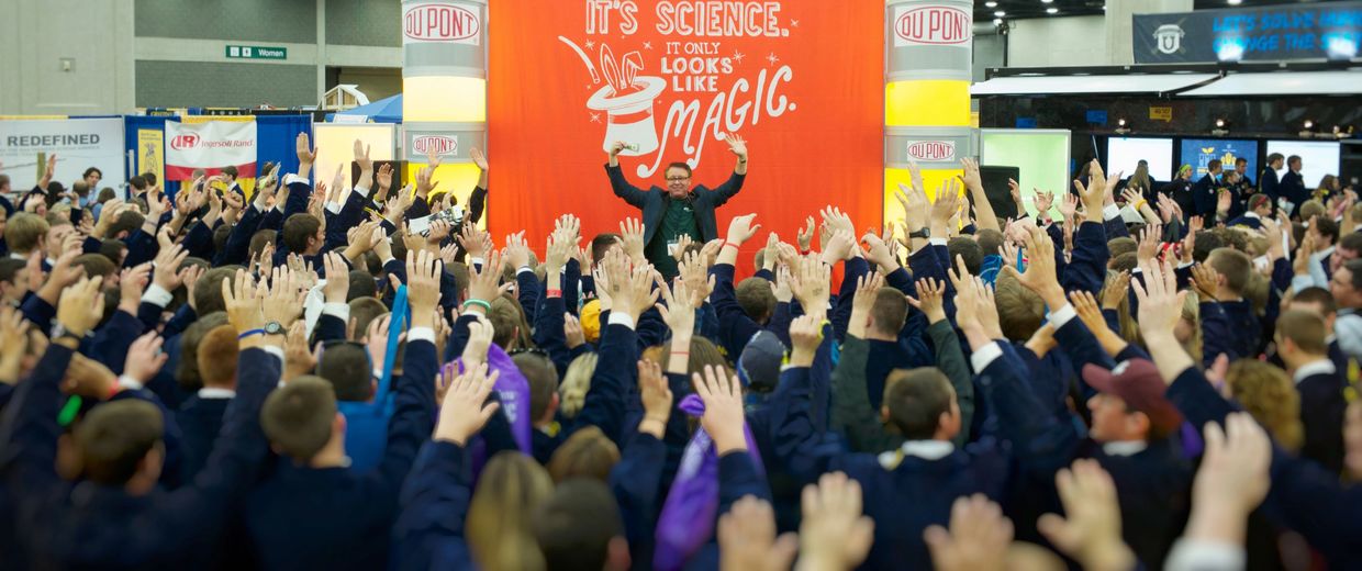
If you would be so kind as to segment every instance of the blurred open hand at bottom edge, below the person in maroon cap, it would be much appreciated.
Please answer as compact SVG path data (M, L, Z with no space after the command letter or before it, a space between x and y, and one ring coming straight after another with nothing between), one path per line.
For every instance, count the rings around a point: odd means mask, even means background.
M1135 553L1121 540L1121 504L1111 476L1092 459L1073 462L1054 477L1066 518L1045 514L1041 533L1084 568L1115 570L1135 566Z

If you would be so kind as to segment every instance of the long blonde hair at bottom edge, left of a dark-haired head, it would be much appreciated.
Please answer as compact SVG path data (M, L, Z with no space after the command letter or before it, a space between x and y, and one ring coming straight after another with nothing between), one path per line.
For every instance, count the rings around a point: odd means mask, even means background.
M478 568L542 570L530 519L552 495L549 473L533 458L516 451L492 457L473 492L464 527Z

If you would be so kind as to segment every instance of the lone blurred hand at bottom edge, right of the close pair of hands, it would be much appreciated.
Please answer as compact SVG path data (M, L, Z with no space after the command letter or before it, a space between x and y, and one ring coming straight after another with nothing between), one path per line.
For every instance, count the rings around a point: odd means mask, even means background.
M932 563L941 571L1001 570L1012 522L1002 516L998 504L982 493L956 497L951 506L951 529L930 526L922 538L932 552Z

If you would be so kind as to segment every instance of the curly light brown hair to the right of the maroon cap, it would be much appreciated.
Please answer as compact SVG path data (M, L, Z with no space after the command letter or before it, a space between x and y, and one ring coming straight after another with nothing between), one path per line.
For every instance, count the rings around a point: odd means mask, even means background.
M1301 395L1282 369L1252 358L1241 358L1224 375L1230 395L1272 433L1282 448L1301 450Z

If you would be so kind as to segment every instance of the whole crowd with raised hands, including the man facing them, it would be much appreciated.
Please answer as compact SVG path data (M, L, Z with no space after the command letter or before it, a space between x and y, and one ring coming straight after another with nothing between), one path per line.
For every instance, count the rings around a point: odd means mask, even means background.
M478 151L452 218L358 142L249 195L49 162L0 202L0 567L1362 566L1351 188L1094 161L1000 219L964 159L786 243L718 223L727 143L712 189L614 146L642 218L543 249Z

